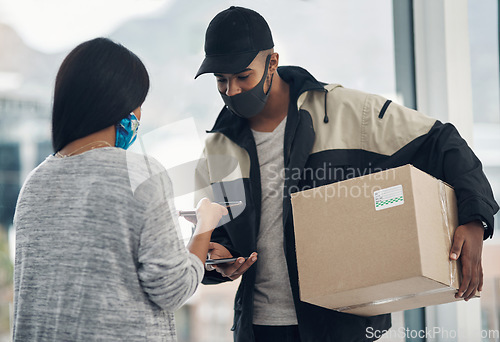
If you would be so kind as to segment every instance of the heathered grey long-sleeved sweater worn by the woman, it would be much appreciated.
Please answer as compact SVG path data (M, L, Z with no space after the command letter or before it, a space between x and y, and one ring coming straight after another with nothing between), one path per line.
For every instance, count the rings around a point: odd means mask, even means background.
M175 341L203 265L180 240L165 169L118 148L49 156L14 217L13 341Z

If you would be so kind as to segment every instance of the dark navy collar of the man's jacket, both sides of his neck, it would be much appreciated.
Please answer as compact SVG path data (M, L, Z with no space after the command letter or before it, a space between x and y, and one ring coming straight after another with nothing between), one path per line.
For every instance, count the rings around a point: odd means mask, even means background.
M324 86L326 84L317 81L307 70L301 67L279 67L278 73L290 85L290 96L295 100L307 91L325 91ZM227 107L222 108L214 127L207 133L222 133L240 146L245 145L245 140L251 139L247 120L234 115Z

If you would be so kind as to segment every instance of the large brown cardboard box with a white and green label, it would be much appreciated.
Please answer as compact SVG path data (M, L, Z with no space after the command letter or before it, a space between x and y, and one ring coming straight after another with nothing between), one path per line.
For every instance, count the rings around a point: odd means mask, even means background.
M292 195L304 302L373 316L448 303L453 189L411 165Z

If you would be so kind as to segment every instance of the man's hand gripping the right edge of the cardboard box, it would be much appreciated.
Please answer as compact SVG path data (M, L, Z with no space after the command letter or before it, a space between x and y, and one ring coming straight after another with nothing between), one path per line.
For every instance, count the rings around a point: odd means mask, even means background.
M481 254L483 251L484 228L480 221L473 221L455 230L450 259L462 261L462 283L455 298L466 301L474 297L477 291L483 289L483 266Z

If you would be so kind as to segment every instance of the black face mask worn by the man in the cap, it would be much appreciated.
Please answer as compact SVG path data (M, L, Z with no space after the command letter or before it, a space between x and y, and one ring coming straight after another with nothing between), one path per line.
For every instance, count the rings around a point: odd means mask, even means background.
M273 79L271 78L269 89L264 93L264 82L266 81L270 61L271 55L267 56L264 76L262 76L259 84L252 89L233 96L227 96L226 94L220 93L224 103L234 114L248 119L259 114L262 109L264 109L267 98L269 97L271 85L273 84Z

